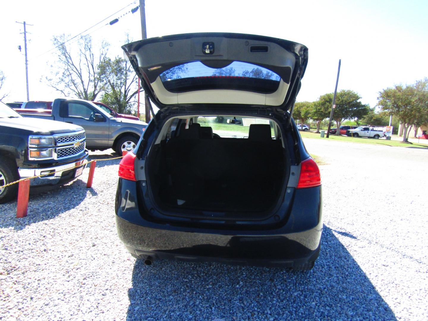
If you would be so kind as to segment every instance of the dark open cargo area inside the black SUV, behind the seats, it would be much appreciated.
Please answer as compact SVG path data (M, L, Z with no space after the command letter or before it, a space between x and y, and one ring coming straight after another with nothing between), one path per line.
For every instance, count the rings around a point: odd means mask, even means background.
M149 153L155 202L172 211L264 215L279 199L287 163L279 134L272 137L271 127L251 124L241 137L218 131L220 137L206 123L181 121Z

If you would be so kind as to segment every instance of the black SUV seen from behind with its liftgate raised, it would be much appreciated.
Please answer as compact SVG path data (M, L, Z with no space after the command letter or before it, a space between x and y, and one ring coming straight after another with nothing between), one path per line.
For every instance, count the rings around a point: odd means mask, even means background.
M321 178L291 117L307 48L233 33L122 48L160 109L119 165L116 223L129 252L146 264L311 269Z

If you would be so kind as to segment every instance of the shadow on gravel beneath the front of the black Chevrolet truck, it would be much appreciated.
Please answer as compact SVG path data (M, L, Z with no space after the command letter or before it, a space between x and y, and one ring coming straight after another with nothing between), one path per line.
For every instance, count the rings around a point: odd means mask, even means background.
M64 186L53 186L49 191L30 196L28 202L28 215L24 218L16 218L16 200L0 205L2 220L0 228L12 227L13 229L25 229L27 225L50 220L57 215L71 210L85 199L88 193L86 181L77 179ZM90 192L96 193L96 192ZM61 200L58 202L58 200Z

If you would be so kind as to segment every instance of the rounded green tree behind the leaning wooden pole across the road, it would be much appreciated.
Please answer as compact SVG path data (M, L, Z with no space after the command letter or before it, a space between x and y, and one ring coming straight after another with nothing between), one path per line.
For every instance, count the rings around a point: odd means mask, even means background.
M360 102L360 95L352 90L340 90L336 95L336 108L333 112L333 120L336 122L336 128L339 128L345 119L354 119L357 121L369 113L369 106ZM324 108L331 108L333 104L333 93L322 95L319 103ZM336 131L339 135L339 130Z

